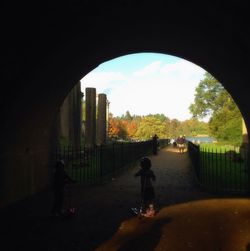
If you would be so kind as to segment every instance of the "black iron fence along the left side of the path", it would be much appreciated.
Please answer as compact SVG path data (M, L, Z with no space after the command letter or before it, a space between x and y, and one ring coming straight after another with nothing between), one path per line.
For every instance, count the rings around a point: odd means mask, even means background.
M168 139L160 139L159 147L169 144ZM116 176L145 156L152 154L152 141L113 143L74 149L70 146L59 148L55 160L65 161L65 170L77 183L94 184Z

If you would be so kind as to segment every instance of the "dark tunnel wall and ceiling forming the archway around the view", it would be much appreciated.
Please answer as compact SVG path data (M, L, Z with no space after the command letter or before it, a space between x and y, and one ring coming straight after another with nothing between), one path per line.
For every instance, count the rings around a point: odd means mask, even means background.
M112 1L97 9L78 3L33 13L28 20L12 13L2 46L0 207L48 186L60 104L85 74L118 56L165 53L201 66L232 95L249 128L244 6L157 3L121 5L117 11ZM85 7L93 16L83 14Z

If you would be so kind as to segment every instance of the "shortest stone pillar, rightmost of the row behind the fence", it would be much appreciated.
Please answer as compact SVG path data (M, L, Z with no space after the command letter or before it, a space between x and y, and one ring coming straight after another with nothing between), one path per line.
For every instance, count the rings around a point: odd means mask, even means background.
M106 94L98 95L98 113L97 113L97 144L106 143L107 133L107 96Z

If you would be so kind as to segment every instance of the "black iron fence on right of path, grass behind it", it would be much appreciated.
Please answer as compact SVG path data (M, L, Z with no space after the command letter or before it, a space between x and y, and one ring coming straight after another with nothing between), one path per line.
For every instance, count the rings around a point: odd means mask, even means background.
M188 151L199 183L213 191L249 191L248 153L233 147L202 147L188 142Z

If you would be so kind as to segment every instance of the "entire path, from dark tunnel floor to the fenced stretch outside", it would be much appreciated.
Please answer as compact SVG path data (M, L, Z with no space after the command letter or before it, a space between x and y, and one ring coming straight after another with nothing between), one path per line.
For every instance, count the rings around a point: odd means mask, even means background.
M133 177L139 167L133 167L110 183L75 187L73 204L79 211L74 218L49 217L50 193L2 212L6 250L248 250L248 199L202 192L187 153L169 147L151 160L160 208L155 218L138 219L130 211L140 202L140 181Z

